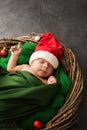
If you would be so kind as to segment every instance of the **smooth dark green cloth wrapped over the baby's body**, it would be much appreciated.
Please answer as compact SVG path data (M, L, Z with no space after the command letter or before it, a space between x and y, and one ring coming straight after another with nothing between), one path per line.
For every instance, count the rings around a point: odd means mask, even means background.
M0 120L33 113L47 106L58 91L26 71L0 76Z

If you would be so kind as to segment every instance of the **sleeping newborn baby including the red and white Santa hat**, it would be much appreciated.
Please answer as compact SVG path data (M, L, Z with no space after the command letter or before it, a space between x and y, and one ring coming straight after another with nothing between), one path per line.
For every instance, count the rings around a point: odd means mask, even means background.
M22 49L18 46L11 47L11 57L7 65L7 71L29 71L45 84L56 84L57 80L52 73L59 65L58 59L63 54L63 47L51 33L40 36L35 52L30 56L29 64L17 65L18 56Z

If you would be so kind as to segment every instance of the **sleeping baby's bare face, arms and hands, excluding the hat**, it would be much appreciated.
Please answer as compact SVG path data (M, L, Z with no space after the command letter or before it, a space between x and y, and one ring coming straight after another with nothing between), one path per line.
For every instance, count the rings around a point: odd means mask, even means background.
M29 71L30 73L38 77L45 84L57 83L56 78L52 76L54 68L48 61L46 61L43 58L37 58L33 60L31 64L16 65L18 56L22 51L20 43L18 44L18 46L12 46L10 48L10 51L11 51L11 57L7 65L8 72Z

